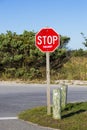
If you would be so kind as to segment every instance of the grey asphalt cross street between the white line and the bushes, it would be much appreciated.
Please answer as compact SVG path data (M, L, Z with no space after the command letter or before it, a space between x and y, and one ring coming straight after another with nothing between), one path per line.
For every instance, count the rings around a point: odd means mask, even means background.
M52 91L58 85L51 85ZM87 101L86 86L68 87L68 102ZM46 85L0 85L0 117L15 117L20 111L35 106L46 105Z

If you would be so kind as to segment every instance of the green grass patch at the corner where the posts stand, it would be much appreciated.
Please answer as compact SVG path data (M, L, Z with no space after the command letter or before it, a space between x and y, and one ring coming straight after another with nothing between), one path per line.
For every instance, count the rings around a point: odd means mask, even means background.
M47 115L45 106L23 111L19 118L42 126L61 130L87 130L87 102L69 103L62 110L62 119Z

